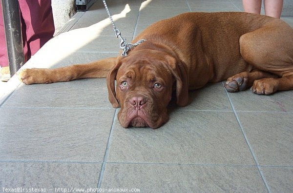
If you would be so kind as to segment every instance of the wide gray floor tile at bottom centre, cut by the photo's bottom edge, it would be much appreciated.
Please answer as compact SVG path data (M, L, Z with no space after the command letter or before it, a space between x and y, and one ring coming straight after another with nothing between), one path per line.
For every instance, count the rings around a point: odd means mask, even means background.
M140 193L265 193L256 167L106 164L101 188Z

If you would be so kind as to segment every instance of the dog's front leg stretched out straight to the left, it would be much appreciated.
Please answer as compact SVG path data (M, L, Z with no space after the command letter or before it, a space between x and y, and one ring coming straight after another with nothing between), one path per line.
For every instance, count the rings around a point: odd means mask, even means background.
M88 64L76 64L56 69L24 69L18 74L18 77L27 85L66 82L80 78L102 78L107 76L115 64L116 58L106 58Z

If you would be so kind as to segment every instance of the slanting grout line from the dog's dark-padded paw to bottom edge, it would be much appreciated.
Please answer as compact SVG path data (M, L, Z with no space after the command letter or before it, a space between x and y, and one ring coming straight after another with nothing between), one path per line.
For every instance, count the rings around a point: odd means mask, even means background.
M222 82L222 85L223 85L223 87L224 87L223 82ZM269 193L271 193L271 190L270 190L270 188L269 188L269 185L268 185L268 183L267 183L267 180L266 180L265 176L263 175L263 173L262 173L262 171L261 171L261 169L260 169L259 163L258 163L258 161L257 161L257 159L256 159L256 155L254 154L254 152L253 152L253 150L252 150L251 144L250 144L250 142L249 142L249 140L248 140L248 138L247 138L247 136L246 136L246 134L245 134L245 132L244 132L243 126L242 126L242 124L241 124L241 122L240 122L240 119L239 119L239 117L238 117L238 115L237 115L237 113L236 113L236 111L235 111L235 108L234 108L234 105L233 105L233 103L232 103L232 100L231 100L231 98L230 98L230 96L229 96L229 94L228 94L228 91L227 91L226 89L225 89L225 92L226 92L226 95L227 95L227 97L228 97L228 99L229 99L229 102L230 102L231 108L232 108L233 113L234 113L234 116L235 116L235 118L236 118L236 120L237 120L237 122L238 122L238 125L239 125L239 127L240 127L241 132L242 132L242 135L244 136L244 139L245 139L245 141L246 141L246 143L247 143L247 145L248 145L248 147L249 147L249 149L250 149L250 152L251 152L251 154L252 154L252 157L253 157L253 159L254 159L254 162L256 163L256 167L257 167L257 169L258 169L258 172L259 172L259 174L260 174L260 176L261 176L261 178L262 178L262 180L263 180L263 182L264 182L264 184L265 184L265 186L266 186L266 188L267 188L267 191L268 191Z

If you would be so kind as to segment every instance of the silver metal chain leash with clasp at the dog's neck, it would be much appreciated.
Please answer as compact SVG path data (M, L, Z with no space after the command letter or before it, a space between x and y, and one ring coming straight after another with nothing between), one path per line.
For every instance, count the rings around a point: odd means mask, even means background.
M143 43L144 41L146 41L146 39L140 39L139 41L135 42L135 43L126 43L126 39L124 39L122 36L121 36L121 33L120 33L120 30L116 27L115 23L114 23L114 20L112 19L112 16L110 14L110 11L108 9L108 6L106 4L106 1L103 0L103 3L105 5L105 9L106 9L106 12L109 16L109 19L111 20L111 23L113 25L113 28L114 28L114 32L115 32L115 35L116 35L116 38L119 38L120 39L120 48L122 49L122 54L121 56L127 56L127 52L133 48L133 47L136 47L138 46L139 44Z

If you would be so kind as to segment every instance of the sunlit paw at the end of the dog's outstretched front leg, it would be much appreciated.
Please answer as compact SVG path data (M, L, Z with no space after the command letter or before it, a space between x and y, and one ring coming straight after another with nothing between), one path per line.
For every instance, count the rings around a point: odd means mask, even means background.
M43 69L32 68L24 69L18 73L18 78L26 85L44 82Z

